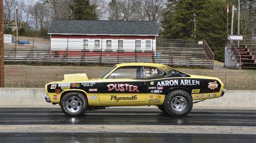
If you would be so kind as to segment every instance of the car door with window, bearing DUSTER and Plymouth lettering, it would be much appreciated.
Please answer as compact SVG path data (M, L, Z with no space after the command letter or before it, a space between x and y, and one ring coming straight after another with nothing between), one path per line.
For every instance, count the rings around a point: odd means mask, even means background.
M101 105L141 105L147 96L147 80L140 66L119 67L98 83Z

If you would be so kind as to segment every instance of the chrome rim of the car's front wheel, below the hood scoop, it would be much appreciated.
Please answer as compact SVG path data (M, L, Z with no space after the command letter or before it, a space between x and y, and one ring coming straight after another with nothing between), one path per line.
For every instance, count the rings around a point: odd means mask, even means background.
M72 113L82 109L82 100L77 96L71 96L66 100L66 109Z

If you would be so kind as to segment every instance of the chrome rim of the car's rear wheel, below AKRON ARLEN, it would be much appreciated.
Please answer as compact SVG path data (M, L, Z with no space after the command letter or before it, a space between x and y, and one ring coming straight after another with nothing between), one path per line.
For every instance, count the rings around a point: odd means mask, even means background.
M186 99L183 96L176 96L172 99L171 106L174 111L184 111L187 107Z

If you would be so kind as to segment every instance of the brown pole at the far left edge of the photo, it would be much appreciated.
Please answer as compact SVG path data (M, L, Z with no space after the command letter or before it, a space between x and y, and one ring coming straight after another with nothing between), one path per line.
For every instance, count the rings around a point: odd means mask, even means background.
M4 87L4 29L3 0L0 0L0 87Z

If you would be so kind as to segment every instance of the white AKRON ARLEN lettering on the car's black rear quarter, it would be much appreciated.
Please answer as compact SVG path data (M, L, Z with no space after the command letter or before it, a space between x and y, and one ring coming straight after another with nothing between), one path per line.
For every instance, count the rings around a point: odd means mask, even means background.
M178 86L178 85L200 85L200 81L197 80L170 80L170 81L159 81L158 86Z

